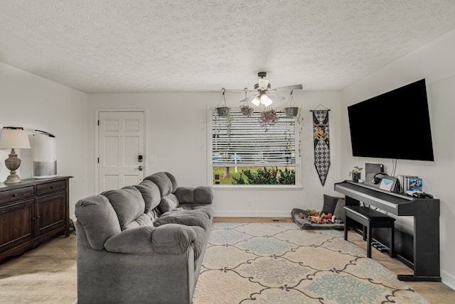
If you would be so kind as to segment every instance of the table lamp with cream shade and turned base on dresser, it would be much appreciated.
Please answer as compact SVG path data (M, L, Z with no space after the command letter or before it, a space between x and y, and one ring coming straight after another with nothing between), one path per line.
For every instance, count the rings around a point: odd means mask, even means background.
M30 141L28 141L27 131L21 127L4 126L0 134L0 149L11 148L9 158L6 158L6 168L10 170L5 184L21 183L21 178L16 174L16 170L21 166L21 159L17 157L14 149L29 149Z

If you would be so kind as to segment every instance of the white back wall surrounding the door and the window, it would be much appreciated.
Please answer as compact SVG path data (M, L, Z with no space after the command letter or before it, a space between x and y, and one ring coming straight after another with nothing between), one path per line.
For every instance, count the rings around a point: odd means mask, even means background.
M148 156L156 163L145 163L146 173L161 170L176 175L179 185L209 185L208 180L208 115L216 107L217 93L150 93L150 94L89 94L89 192L95 194L95 112L96 109L130 107L147 109ZM228 106L239 107L243 93L227 93ZM334 195L333 183L340 180L340 98L338 92L294 92L302 107L303 189L225 189L215 188L215 215L240 217L289 217L294 207L320 210L323 193ZM284 107L276 103L275 107ZM331 168L322 187L314 168L313 124L310 109L322 104L329 112L331 128ZM323 108L322 108L323 109ZM149 157L145 157L147 162ZM346 173L346 178L347 178Z

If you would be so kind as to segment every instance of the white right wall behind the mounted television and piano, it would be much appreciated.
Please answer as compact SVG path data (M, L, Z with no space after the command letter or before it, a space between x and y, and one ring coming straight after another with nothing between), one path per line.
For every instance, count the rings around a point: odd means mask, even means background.
M441 277L446 285L455 288L455 31L451 31L423 48L415 50L378 72L355 82L341 92L341 171L347 172L354 165L383 163L387 159L352 157L348 131L347 106L387 92L396 87L425 78L432 124L434 162L398 161L396 174L418 175L424 180L424 191L441 200L440 241ZM387 118L384 119L387 121ZM405 139L418 140L418 139ZM411 219L402 225L412 227Z

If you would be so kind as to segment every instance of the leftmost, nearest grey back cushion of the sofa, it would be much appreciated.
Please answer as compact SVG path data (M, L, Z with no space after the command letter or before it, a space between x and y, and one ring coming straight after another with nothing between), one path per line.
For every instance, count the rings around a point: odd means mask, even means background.
M117 214L105 196L93 195L79 200L75 215L77 224L84 227L87 240L95 250L104 249L105 241L121 231Z

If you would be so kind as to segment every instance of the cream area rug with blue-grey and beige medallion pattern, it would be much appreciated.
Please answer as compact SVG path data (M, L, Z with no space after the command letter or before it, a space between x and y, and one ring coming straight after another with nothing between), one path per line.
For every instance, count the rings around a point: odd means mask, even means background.
M429 303L336 230L214 223L193 296L213 303Z

